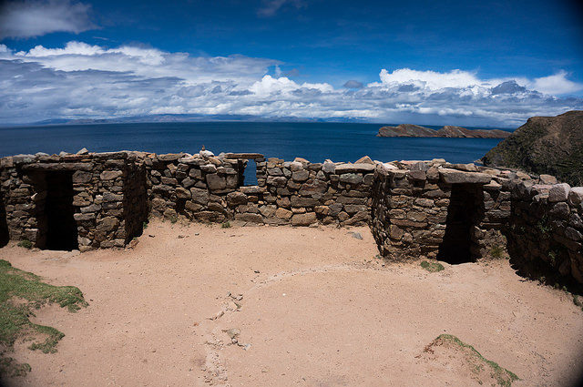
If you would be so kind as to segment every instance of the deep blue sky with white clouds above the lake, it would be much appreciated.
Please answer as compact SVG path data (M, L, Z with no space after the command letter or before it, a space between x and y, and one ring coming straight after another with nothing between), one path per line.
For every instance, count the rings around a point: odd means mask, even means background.
M568 1L13 1L0 123L178 114L499 125L583 109Z

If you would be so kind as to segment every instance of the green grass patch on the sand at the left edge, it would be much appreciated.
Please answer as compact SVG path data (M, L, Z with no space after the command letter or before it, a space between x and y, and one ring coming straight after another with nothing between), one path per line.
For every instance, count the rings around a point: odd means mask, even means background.
M56 352L56 344L65 335L28 319L47 303L56 303L68 311L87 306L83 293L76 287L49 285L35 274L15 269L10 262L0 260L0 372L3 374L17 376L30 371L28 364L18 364L5 357L18 338L31 338L33 343L28 348L33 351ZM38 337L45 340L37 341Z

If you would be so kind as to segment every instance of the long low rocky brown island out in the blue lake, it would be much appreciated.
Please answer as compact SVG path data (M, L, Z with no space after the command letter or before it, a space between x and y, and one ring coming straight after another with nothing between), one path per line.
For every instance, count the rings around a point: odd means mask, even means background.
M510 132L500 129L467 129L447 125L438 130L412 124L397 127L381 127L377 137L465 137L465 138L506 138Z

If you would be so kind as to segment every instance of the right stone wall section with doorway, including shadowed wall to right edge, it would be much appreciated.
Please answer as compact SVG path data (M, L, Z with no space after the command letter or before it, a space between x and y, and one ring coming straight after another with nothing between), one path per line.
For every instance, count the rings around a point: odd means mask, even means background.
M371 229L392 259L506 255L529 277L583 283L583 188L553 183L444 160L379 164Z

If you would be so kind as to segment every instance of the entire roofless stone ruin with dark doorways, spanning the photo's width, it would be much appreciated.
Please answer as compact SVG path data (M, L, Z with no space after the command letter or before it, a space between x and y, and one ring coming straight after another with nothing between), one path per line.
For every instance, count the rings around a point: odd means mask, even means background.
M244 170L256 164L256 185ZM149 216L222 223L369 224L394 260L461 263L509 254L527 275L583 283L583 188L443 159L284 161L202 150L0 159L0 242L87 251L124 247Z

